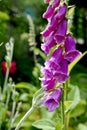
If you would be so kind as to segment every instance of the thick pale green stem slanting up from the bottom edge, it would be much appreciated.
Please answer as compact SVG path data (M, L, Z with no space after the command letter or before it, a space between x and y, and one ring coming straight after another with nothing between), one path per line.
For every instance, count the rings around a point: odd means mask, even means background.
M21 124L25 121L25 119L31 114L31 112L34 110L34 107L31 107L27 113L23 116L23 118L19 121L18 125L16 126L15 130L19 130Z

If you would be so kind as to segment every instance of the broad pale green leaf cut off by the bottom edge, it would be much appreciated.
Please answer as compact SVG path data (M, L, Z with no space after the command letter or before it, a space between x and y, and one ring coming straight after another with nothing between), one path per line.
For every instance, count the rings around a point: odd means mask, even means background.
M55 130L55 122L50 119L41 119L32 124L38 129Z

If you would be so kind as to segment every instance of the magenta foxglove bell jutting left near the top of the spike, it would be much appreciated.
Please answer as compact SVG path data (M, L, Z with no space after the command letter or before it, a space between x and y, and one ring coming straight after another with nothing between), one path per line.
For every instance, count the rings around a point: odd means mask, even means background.
M52 15L54 14L54 10L55 10L55 8L53 7L53 5L50 4L47 7L46 12L43 14L43 18L48 19L48 18L52 17Z

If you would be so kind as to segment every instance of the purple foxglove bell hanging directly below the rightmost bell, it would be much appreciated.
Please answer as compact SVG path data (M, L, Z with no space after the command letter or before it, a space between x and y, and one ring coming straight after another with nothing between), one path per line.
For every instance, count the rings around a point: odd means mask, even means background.
M65 81L69 78L68 76L68 62L65 59L62 59L60 62L60 69L55 70L53 76L59 83L65 83Z

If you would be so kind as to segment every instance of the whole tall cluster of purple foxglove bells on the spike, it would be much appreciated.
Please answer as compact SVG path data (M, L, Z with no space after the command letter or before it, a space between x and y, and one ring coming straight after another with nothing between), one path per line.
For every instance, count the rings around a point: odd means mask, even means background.
M59 86L69 78L68 62L74 61L81 52L76 50L76 43L71 34L67 34L67 5L61 4L60 0L45 0L45 2L49 6L43 17L48 20L48 25L41 33L44 40L41 49L47 56L49 54L49 58L41 70L43 77L39 79L42 87L46 88L43 103L49 111L53 111L60 104L62 89ZM51 50L52 47L55 49Z

